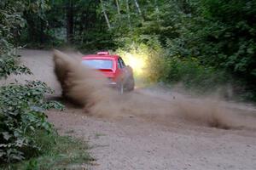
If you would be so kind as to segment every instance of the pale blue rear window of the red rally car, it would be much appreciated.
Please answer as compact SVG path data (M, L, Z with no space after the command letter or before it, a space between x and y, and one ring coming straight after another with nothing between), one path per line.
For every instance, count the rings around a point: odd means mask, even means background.
M112 69L113 60L111 59L87 59L82 61L83 65L90 66L94 69Z

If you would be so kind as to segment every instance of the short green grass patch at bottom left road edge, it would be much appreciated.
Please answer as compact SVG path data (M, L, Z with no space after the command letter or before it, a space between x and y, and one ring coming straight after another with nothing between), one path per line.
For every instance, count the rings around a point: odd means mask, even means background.
M56 133L38 133L37 140L42 149L38 157L5 165L0 169L86 169L90 161L95 161L88 152L89 145L79 139L59 136Z

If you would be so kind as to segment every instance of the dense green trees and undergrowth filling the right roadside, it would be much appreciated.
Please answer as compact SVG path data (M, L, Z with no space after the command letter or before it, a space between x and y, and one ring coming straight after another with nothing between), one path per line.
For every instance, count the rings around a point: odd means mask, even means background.
M130 11L125 10L125 3L120 5L121 14L113 10L113 2L108 4L108 9L119 46L144 43L151 48L152 41L160 42L162 54L150 57L151 80L183 82L188 88L207 89L211 83L224 85L228 77L227 83L237 80L233 88L256 94L255 0L139 3L143 20L132 1ZM126 20L119 22L120 18ZM241 86L247 88L241 90Z

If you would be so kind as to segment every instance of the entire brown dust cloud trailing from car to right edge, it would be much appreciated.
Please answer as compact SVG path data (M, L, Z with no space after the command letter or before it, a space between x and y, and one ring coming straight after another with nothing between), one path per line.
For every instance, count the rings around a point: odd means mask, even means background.
M108 81L98 71L81 64L81 57L54 51L55 75L61 83L62 95L91 116L118 118L140 116L153 122L186 121L219 128L255 127L251 117L240 116L242 111L226 107L219 99L189 99L182 95L151 93L136 89L118 94L108 88Z

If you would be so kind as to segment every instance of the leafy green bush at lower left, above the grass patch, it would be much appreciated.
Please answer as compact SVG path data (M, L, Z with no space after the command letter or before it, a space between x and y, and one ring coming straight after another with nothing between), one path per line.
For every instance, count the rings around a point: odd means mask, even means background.
M35 133L38 129L50 133L44 111L62 109L62 105L45 101L52 91L44 82L10 84L0 88L0 160L20 161L41 150Z

